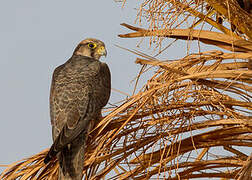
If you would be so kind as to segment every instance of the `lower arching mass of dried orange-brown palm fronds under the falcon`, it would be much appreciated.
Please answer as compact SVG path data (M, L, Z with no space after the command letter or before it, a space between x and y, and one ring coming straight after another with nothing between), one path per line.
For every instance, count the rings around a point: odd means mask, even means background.
M246 61L228 60L251 56L212 51L172 62L137 59L159 69L93 131L86 177L114 171L114 179L235 178L247 164L241 147L252 147L252 71ZM55 177L57 162L44 165L46 152L10 165L2 178Z

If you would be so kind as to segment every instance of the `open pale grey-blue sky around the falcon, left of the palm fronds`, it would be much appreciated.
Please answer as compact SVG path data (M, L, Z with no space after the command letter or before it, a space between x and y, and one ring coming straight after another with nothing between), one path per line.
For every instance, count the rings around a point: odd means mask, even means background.
M113 0L1 2L0 164L29 157L51 145L48 98L52 72L81 40L95 37L105 42L112 87L131 91L130 81L140 66L134 64L134 55L114 44L135 48L136 39L117 35L129 32L120 23L134 22L136 2L126 3L124 9ZM176 53L173 50L169 57ZM112 92L110 102L120 98Z

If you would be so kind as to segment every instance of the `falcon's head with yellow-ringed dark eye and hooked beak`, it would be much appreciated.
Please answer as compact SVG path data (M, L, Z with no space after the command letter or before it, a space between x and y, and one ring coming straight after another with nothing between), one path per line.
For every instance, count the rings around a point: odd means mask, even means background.
M107 51L105 44L93 38L88 38L80 42L77 48L74 50L75 55L88 56L99 60L101 56L106 56Z

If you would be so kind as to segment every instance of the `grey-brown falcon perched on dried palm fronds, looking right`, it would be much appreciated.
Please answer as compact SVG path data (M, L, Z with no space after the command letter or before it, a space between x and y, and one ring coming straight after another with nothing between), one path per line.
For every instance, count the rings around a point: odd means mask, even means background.
M58 159L59 180L83 177L88 133L101 119L101 110L110 98L110 70L100 61L106 55L102 41L87 38L54 70L50 90L53 144L44 163Z

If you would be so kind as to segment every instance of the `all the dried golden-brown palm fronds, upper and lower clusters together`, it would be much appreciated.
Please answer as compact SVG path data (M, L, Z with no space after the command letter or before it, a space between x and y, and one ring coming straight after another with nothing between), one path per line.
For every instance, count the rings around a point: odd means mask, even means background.
M216 13L230 27L214 20ZM157 45L161 41L155 38L199 40L225 51L198 52L173 61L132 51L140 56L136 63L142 65L141 72L152 73L149 66L155 73L91 132L95 141L88 143L84 177L250 179L251 15L235 0L145 0L139 8L140 22L143 17L149 29L123 24L135 32L120 37L148 36ZM203 25L194 29L202 23L220 32ZM231 25L237 29L232 31ZM9 165L0 179L57 179L57 160L43 164L47 151Z

